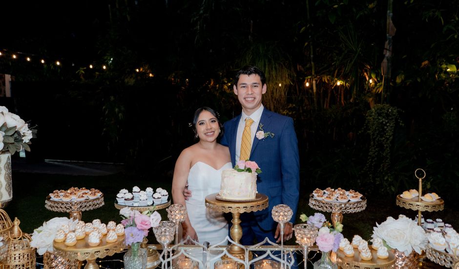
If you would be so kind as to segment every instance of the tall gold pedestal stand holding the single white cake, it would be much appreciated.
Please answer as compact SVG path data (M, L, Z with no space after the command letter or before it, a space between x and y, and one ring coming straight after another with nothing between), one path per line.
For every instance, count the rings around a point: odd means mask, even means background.
M255 211L261 211L268 207L268 196L264 194L257 193L255 197L255 201L250 202L232 202L232 201L223 201L218 200L216 198L217 193L210 194L206 197L206 207L224 213L231 213L233 219L231 223L230 235L231 239L239 244L239 240L242 238L242 228L241 228L241 220L239 217L241 213L249 213ZM243 248L231 244L228 247L228 253L232 256L244 260L245 259L245 251ZM222 259L230 259L227 256L223 256ZM249 252L249 260L252 259L252 253Z

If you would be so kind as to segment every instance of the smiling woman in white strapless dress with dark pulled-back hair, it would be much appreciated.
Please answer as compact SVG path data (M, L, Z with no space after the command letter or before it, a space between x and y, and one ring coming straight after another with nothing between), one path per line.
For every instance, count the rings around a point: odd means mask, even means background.
M228 235L228 222L223 213L206 208L204 200L220 191L221 172L231 168L230 151L217 143L223 130L212 109L196 110L192 128L198 142L184 149L175 163L172 198L174 203L187 207L188 216L182 223L183 239L190 236L201 244L207 241L214 245ZM193 196L185 200L183 191L187 181Z

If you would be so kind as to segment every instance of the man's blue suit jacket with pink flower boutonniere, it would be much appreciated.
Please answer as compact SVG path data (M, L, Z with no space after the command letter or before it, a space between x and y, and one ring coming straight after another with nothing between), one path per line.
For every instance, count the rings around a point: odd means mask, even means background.
M235 165L237 126L241 115L225 122L225 133L221 144L230 148L231 162ZM254 213L261 228L271 230L277 225L271 217L274 205L287 204L292 208L294 221L299 198L298 140L293 128L293 119L263 109L260 124L268 136L252 142L250 160L255 161L262 173L257 176L257 191L268 196L269 207ZM257 132L260 130L258 126Z

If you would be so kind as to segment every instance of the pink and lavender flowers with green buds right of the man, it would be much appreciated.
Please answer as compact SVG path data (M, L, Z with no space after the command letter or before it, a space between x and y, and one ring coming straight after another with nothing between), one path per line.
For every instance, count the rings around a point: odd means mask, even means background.
M314 215L309 217L305 214L301 214L300 219L319 229L319 233L315 238L315 243L320 251L329 252L333 250L335 252L338 250L339 242L344 238L341 233L343 231L343 224L337 222L336 227L332 228L332 224L326 221L322 213L314 213Z

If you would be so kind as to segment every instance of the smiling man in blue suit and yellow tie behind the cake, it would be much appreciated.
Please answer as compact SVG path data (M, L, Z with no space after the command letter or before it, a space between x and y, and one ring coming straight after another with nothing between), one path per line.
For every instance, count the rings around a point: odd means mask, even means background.
M276 225L271 217L272 207L277 204L290 206L293 222L299 198L298 141L293 120L263 106L262 96L266 90L266 77L259 68L246 66L236 73L233 91L242 106L242 113L225 122L221 140L222 145L230 148L233 166L240 159L250 159L258 164L262 173L257 176L257 191L269 198L267 209L241 214L244 236L240 243L246 246L253 245L255 238L257 242L265 237L280 242L280 225ZM250 126L250 132L246 125ZM257 134L260 131L265 135ZM243 136L249 134L250 143L247 143ZM285 224L284 240L292 238L291 222Z

